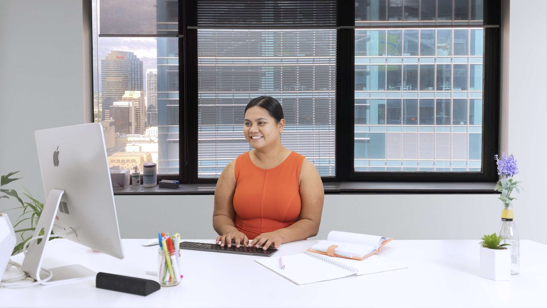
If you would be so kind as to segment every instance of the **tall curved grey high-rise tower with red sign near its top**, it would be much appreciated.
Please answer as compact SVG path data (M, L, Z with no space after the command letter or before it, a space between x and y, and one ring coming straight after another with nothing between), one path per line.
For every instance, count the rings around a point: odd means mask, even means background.
M143 90L143 64L131 52L112 50L101 60L102 119L113 102L120 101L125 91ZM113 117L112 112L110 116ZM114 118L115 119L115 118Z

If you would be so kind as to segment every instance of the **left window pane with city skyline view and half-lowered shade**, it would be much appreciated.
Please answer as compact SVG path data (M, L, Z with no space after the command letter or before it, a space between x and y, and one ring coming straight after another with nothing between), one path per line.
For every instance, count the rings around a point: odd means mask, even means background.
M176 1L92 1L94 122L108 157L144 157L109 159L110 167L155 162L158 174L179 172L179 38L167 37L177 35L177 14Z

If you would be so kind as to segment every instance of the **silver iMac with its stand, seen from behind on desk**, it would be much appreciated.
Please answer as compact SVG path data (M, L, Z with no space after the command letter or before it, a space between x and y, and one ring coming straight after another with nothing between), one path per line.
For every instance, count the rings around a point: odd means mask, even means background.
M35 136L46 202L34 236L44 228L45 235L53 231L96 252L122 259L101 124L36 130ZM47 242L32 241L25 255L23 270L34 279L48 276L40 272ZM62 258L62 253L56 255ZM95 272L80 265L57 267L51 272L50 283L95 276Z

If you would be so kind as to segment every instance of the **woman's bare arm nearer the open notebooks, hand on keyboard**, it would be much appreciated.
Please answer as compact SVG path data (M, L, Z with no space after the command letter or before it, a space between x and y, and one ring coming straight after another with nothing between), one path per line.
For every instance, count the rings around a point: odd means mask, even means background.
M302 162L299 179L302 206L298 220L288 227L262 233L253 239L249 246L277 248L282 243L300 241L317 235L325 198L323 182L315 166L307 159Z

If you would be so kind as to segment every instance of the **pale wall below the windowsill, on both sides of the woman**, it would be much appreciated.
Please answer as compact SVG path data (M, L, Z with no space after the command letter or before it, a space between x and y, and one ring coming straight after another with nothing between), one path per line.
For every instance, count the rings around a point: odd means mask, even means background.
M498 201L495 195L326 195L317 238L330 230L398 239L480 238L497 231ZM152 238L159 230L216 237L213 196L116 196L115 202L124 238Z

